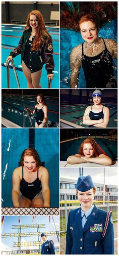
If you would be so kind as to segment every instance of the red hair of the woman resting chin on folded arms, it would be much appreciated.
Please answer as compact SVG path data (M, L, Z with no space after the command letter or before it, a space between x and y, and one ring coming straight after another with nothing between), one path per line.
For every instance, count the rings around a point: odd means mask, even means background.
M93 138L87 138L85 139L82 143L81 143L81 146L78 150L78 153L82 156L84 156L84 153L83 153L83 147L84 147L84 144L85 143L90 143L92 148L94 149L94 153L93 153L93 156L91 157L97 157L99 156L102 152L98 149L98 146L97 146L97 143L94 141Z

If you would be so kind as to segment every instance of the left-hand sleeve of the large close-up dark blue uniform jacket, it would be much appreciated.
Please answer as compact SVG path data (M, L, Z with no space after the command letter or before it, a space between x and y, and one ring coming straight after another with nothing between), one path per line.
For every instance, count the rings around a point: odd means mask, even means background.
M67 226L67 235L66 235L66 254L71 254L72 251L72 245L73 245L73 237L72 237L72 233L71 233L71 212L69 213L69 217L68 217L68 226Z

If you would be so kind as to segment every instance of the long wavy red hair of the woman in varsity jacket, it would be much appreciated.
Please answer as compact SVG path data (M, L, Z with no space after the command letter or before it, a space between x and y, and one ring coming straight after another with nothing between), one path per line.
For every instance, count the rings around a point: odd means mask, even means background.
M27 23L24 30L27 30L28 28L30 28L29 21L30 21L31 15L35 15L38 20L38 27L36 28L36 34L33 40L33 46L31 50L40 50L42 40L47 42L49 38L49 33L44 25L43 16L38 10L33 10L28 14ZM46 39L43 38L43 35L46 36Z

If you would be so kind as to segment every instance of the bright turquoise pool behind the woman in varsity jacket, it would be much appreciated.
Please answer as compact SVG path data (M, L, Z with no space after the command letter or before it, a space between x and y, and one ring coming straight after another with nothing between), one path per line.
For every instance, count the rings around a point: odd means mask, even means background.
M7 88L6 59L10 55L10 52L18 46L24 27L24 25L2 24L2 88ZM59 88L59 29L55 27L47 27L47 30L53 41L53 58L55 64L52 88ZM20 82L20 88L27 88L27 81L22 71L20 55L14 58L14 63ZM41 87L47 88L47 83L47 72L44 65L40 80ZM18 88L12 66L10 66L10 88Z

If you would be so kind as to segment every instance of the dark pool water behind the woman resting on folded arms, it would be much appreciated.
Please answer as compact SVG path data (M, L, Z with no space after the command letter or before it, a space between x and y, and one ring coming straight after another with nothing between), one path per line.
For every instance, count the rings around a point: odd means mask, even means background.
M86 137L81 137L75 140L70 140L61 143L61 161L66 161L68 156L78 153L78 149L81 143L86 139ZM99 144L101 149L112 159L117 160L117 141L113 139L106 138L106 136L98 137L96 136L94 140Z

